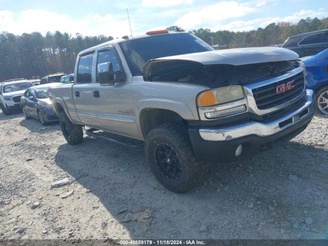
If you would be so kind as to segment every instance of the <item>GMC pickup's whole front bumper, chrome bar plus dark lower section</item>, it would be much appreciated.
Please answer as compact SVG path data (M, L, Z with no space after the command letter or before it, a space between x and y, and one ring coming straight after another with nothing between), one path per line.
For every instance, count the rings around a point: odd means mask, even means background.
M306 101L297 110L271 122L249 122L224 128L189 128L190 139L198 159L234 161L268 149L275 142L288 140L302 132L314 114L314 93L306 90ZM243 146L240 156L236 149Z

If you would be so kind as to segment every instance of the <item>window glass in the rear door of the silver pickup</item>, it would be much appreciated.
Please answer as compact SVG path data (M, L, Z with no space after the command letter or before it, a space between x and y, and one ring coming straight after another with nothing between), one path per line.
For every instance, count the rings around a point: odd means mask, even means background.
M77 84L91 84L93 53L83 55L78 61Z

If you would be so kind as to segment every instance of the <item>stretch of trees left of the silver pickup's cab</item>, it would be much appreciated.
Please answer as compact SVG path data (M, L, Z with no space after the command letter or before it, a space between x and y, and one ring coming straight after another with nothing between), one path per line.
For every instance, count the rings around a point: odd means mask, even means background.
M14 35L0 33L0 81L11 78L31 78L65 72L73 73L78 52L106 41L109 36L74 36L68 33L39 32Z

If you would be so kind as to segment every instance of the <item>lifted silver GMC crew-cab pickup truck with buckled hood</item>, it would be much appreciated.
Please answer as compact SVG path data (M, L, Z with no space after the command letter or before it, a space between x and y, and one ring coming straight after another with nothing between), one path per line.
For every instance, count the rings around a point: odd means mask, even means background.
M213 50L190 33L163 30L81 51L74 83L49 95L69 144L83 141L84 126L114 142L108 134L142 141L157 180L183 193L206 179L208 163L302 132L314 114L305 84L304 65L288 49Z

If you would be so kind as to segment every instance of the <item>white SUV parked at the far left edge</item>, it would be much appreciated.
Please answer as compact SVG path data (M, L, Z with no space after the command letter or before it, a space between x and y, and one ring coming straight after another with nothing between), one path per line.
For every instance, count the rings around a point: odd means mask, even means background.
M19 99L33 84L25 79L6 80L0 85L1 110L5 115L9 115L15 110L20 110Z

